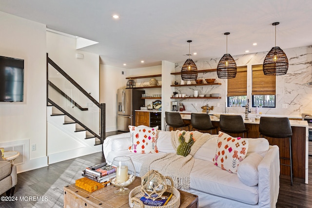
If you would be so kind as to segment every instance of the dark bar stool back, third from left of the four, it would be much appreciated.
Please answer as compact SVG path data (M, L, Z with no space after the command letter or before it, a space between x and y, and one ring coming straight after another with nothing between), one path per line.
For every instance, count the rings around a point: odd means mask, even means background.
M226 133L247 133L243 117L240 115L220 115L220 131Z

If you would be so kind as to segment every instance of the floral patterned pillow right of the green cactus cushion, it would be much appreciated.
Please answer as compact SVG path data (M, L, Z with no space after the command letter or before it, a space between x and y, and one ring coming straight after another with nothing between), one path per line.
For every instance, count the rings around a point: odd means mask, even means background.
M236 173L239 163L246 157L248 139L232 137L224 132L219 132L215 157L216 166L223 170Z

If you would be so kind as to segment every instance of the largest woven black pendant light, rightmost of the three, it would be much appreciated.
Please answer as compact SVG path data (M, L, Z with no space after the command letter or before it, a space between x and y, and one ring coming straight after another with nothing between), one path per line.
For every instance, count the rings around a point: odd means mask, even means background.
M286 75L288 70L288 58L280 47L276 47L276 25L279 22L272 23L275 26L275 47L269 51L263 61L264 75Z

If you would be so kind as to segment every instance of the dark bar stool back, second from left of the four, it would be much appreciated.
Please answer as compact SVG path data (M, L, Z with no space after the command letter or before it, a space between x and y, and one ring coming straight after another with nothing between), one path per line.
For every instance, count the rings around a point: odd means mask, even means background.
M209 131L212 134L213 129L217 129L213 126L210 115L207 113L191 113L191 125L192 129L197 129L199 131ZM216 130L216 133L218 131Z

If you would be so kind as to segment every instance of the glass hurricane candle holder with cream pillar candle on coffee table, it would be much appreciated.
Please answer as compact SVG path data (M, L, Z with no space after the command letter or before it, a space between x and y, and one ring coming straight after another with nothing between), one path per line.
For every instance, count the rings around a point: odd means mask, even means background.
M130 190L125 187L132 184L136 179L136 170L131 157L115 157L110 169L116 170L108 172L108 178L111 184L119 188L115 190L114 193L117 195L128 194Z

